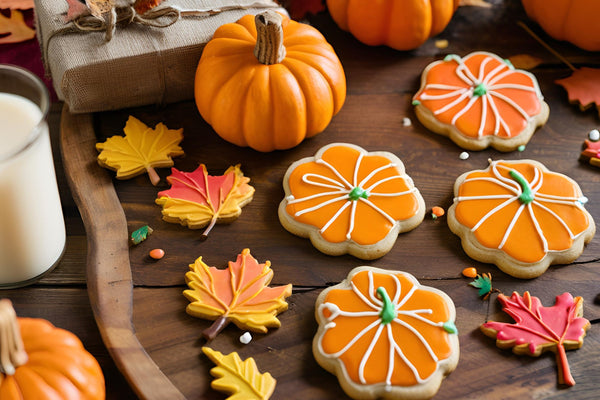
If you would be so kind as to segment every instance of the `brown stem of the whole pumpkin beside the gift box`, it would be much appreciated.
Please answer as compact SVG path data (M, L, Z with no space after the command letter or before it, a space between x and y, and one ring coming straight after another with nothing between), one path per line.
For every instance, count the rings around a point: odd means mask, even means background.
M254 21L256 23L254 56L261 64L279 64L285 58L281 14L267 10L257 14Z

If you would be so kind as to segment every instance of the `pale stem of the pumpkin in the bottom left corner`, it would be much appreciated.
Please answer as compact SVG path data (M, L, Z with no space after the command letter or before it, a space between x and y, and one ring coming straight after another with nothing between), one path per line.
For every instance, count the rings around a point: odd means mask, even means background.
M0 372L13 375L27 362L17 314L8 299L0 300ZM0 381L4 376L0 376Z

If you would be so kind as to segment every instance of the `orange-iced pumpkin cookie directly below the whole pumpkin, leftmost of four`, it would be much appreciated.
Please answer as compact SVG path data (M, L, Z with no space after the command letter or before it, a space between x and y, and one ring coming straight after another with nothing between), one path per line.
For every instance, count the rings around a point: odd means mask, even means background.
M398 157L347 143L293 163L283 179L279 220L325 254L375 259L398 233L416 228L425 202Z

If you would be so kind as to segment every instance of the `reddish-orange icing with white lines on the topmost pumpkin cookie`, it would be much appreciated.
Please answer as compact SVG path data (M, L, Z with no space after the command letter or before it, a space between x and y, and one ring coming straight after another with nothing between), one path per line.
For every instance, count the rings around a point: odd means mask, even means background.
M473 57L478 57L477 61L469 61ZM457 65L455 68L444 66L450 63ZM438 118L452 110L442 122L448 119L447 123L457 126L461 117L475 118L474 112L469 116L467 113L480 103L478 123L461 125L460 130L466 136L478 139L488 135L514 137L539 112L543 97L535 77L526 71L515 70L510 63L493 54L476 52L464 59L449 55L443 62L433 64L431 70L436 68L444 68L443 72L452 74L453 78L443 80L442 71L436 72L432 82L427 78L427 83L415 96L417 105L423 104ZM430 74L432 72L428 71L427 75ZM447 102L440 102L444 100ZM518 121L519 118L522 121ZM470 132L471 129L474 131Z

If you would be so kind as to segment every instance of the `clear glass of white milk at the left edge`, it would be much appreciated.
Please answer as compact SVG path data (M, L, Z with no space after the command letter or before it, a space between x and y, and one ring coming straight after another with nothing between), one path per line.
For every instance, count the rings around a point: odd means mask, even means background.
M33 283L65 248L49 107L39 78L0 64L0 288Z

